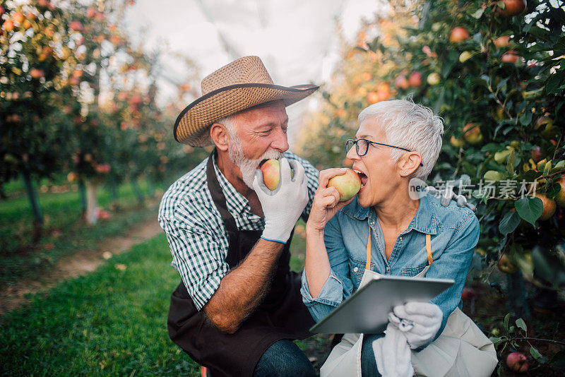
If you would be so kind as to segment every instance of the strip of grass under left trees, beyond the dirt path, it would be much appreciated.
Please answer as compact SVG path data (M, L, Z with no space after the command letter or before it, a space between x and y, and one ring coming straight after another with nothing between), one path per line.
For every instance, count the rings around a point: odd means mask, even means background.
M62 256L79 249L93 249L101 239L122 234L131 225L156 217L157 213L155 204L139 205L129 184L119 188L119 211L95 226L80 220L77 191L40 194L40 203L45 217L44 232L39 244L32 244L28 198L19 196L0 202L0 288L21 278L40 278ZM98 206L109 208L111 203L109 193L98 190Z

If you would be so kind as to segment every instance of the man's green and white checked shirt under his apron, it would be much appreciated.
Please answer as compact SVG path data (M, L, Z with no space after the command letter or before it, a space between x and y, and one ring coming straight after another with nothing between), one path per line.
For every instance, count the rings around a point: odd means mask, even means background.
M302 164L308 179L308 204L302 217L307 220L318 187L319 172L309 162L292 152L285 152L288 160ZM202 309L220 287L220 280L230 270L227 256L227 232L216 210L206 180L204 160L172 184L161 199L159 223L167 234L172 253L171 265L182 277L196 308ZM222 187L227 210L234 217L238 229L263 230L265 222L251 213L247 199L239 193L214 164Z

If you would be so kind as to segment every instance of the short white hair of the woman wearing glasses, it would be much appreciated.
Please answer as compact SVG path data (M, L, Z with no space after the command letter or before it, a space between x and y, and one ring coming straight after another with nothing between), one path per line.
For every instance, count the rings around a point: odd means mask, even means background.
M434 115L432 109L410 99L371 104L359 113L359 124L369 118L381 126L387 144L420 152L424 166L418 167L412 176L425 180L441 150L444 120ZM404 153L405 150L391 148L391 159L397 162Z

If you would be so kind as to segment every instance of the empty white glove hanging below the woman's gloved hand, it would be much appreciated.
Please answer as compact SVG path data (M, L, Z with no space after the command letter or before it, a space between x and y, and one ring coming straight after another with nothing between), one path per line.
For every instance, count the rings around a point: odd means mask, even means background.
M388 323L385 336L373 342L376 369L383 377L412 377L412 354L404 333Z

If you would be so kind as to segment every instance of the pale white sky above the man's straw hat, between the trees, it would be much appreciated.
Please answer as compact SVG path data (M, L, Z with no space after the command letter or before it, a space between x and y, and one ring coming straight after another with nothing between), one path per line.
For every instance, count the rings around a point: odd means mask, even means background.
M165 47L160 56L162 101L189 76L179 53L189 57L200 79L234 59L261 58L278 85L322 84L338 63L339 24L354 40L362 19L370 20L379 0L138 0L124 23L143 40L145 51ZM158 4L158 5L157 5ZM198 90L200 93L200 90ZM187 98L187 105L194 98ZM319 96L288 107L289 140Z

